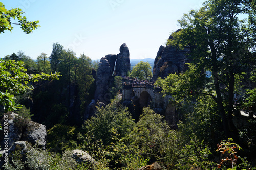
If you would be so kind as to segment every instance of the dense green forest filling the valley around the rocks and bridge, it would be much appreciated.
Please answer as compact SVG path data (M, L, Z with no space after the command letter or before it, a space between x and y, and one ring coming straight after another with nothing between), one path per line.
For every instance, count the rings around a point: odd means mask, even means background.
M3 16L20 15L0 5ZM187 69L163 62L164 54L158 53L153 75L146 62L125 75L114 72L109 101L96 101L91 110L98 68L106 58L92 61L57 42L51 54L41 53L36 60L22 49L4 56L0 169L256 169L255 9L255 1L205 1L184 14L178 21L181 29L166 42L166 48L185 51ZM0 33L10 29L0 23ZM38 22L21 23L30 33ZM161 76L153 82L161 62ZM169 68L177 71L165 77ZM176 125L168 124L153 104L135 118L123 105L124 76L151 81L164 97L171 96ZM8 130L7 122L16 130ZM42 126L45 143L38 136L28 142ZM8 152L5 135L11 133L9 142L21 135Z

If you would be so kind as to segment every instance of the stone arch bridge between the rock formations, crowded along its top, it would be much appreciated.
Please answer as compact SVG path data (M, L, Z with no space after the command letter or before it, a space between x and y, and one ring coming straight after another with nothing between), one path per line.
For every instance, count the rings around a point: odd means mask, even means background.
M178 116L175 113L175 102L171 101L171 96L163 96L162 88L154 86L153 83L139 81L134 83L134 79L123 78L122 94L124 100L139 100L140 108L151 106L154 111L165 116L167 123L176 127Z

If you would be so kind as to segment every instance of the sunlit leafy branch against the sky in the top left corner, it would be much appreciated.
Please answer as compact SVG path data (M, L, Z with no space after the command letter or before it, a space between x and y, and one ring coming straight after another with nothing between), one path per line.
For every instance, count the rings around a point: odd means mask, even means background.
M5 30L9 30L10 32L13 29L13 25L20 25L22 30L26 33L32 33L33 30L40 27L38 25L39 21L27 21L25 16L22 16L24 12L20 8L13 8L11 10L7 10L5 5L0 2L0 34L4 33ZM11 22L11 19L18 19L18 23Z

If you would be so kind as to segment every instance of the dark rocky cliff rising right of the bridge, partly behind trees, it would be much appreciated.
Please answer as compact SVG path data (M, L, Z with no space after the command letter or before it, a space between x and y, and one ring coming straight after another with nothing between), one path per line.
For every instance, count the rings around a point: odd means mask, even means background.
M179 30L177 30L179 31ZM173 37L170 36L169 39ZM154 68L153 68L153 81L158 77L166 78L170 73L181 73L188 69L185 63L188 62L186 54L189 48L178 50L174 46L167 45L166 47L160 46L157 53Z

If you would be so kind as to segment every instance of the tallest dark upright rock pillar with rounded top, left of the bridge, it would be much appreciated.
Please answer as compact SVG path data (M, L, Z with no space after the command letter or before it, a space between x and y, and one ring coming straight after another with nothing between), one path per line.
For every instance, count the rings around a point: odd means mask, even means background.
M117 55L116 60L116 75L127 76L130 69L131 64L129 49L126 44L122 44L120 47L120 53Z

